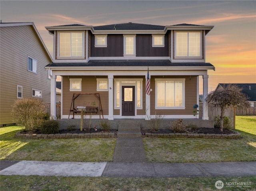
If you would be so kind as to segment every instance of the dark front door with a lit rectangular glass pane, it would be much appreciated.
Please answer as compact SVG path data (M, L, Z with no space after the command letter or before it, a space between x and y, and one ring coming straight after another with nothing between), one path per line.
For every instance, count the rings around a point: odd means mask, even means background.
M135 86L122 86L122 116L135 115Z

